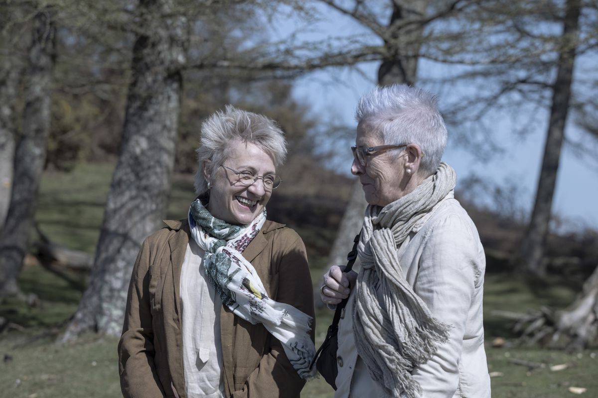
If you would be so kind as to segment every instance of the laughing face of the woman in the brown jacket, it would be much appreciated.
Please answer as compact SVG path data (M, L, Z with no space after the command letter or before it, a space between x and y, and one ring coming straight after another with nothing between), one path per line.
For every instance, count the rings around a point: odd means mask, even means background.
M236 171L249 171L253 175L275 174L276 167L271 156L252 143L232 141L230 156L223 163ZM204 168L206 180L210 181L209 212L216 218L230 224L249 224L268 203L271 190L264 190L260 178L254 184L245 186L234 172L219 167L211 180Z

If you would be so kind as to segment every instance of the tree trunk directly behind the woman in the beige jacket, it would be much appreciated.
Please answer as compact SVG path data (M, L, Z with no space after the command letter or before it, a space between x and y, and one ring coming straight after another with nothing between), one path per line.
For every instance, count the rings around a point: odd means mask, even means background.
M401 8L393 2L392 16L390 16L389 29L407 18L419 18L425 15L425 10L428 5L427 0L414 1L410 4L410 8ZM386 41L385 45L388 48L389 58L386 58L380 64L378 70L378 84L391 85L395 83L404 83L413 85L417 78L417 54L422 45L423 26L418 28L411 28L408 32L407 39L402 36L403 32L400 30L393 30L393 40ZM419 36L418 36L419 35ZM396 40L395 40L396 39ZM351 191L351 199L344 212L338 228L338 233L332 249L328 257L329 266L344 265L347 262L347 253L353 247L353 239L355 235L361 230L363 224L364 211L368 203L365 201L364 191L362 190L359 180L353 184ZM320 278L318 286L321 286L323 279ZM319 289L316 289L316 306L322 307L324 304L319 297Z

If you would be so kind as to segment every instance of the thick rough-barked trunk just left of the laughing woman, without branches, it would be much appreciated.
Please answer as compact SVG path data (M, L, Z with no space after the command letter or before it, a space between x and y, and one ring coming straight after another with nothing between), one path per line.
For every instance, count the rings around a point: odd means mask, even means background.
M81 332L120 335L142 241L166 213L181 107L187 20L172 1L141 0L120 157L108 194L89 286L60 341Z

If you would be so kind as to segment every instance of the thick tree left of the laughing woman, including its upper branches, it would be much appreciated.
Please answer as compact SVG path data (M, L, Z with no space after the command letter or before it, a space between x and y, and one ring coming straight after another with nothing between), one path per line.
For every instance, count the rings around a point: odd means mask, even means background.
M120 335L127 285L136 254L142 240L158 229L166 212L181 112L183 72L189 75L210 70L216 79L222 79L220 69L240 70L243 64L251 64L240 57L219 63L218 59L231 56L229 51L236 55L239 42L236 38L202 41L202 35L209 36L210 29L216 29L218 35L230 33L217 21L224 17L230 20L231 14L241 16L231 24L232 30L238 29L258 3L142 0L132 11L132 20L103 21L112 29L135 33L132 82L119 160L112 177L89 286L59 341L73 340L89 330ZM196 45L188 51L191 39ZM212 79L213 75L208 78ZM198 111L201 112L205 109Z

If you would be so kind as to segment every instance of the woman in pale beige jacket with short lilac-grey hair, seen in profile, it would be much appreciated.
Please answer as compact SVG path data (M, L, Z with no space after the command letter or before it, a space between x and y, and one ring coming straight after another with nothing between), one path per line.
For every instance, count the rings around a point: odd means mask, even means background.
M321 288L349 295L338 331L335 397L489 398L485 257L441 162L447 130L435 97L376 88L356 110L351 171L369 203L359 273L332 267Z

